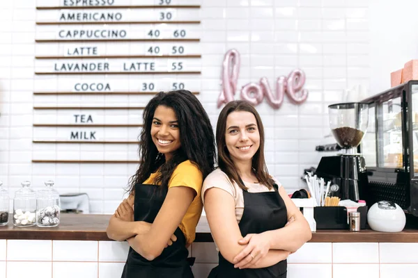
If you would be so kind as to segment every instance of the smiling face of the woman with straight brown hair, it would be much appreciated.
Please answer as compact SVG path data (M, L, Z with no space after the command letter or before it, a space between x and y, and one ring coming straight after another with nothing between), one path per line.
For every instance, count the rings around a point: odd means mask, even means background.
M260 147L260 133L253 113L235 111L228 115L225 143L232 161L251 162Z

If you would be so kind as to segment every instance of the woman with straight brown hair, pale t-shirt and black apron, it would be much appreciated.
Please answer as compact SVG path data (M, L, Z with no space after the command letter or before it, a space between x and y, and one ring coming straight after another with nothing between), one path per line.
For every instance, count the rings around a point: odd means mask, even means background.
M219 249L209 277L285 278L286 258L311 239L311 230L268 174L260 115L246 101L231 101L219 114L216 140L218 167L202 188Z

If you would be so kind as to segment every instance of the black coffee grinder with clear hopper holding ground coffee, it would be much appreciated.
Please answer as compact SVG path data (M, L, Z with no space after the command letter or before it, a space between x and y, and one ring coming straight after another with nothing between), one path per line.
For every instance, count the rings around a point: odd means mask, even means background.
M369 105L360 102L332 104L328 112L332 134L342 153L323 156L315 174L331 181L333 196L353 201L364 199L368 184L366 163L357 147L367 130Z

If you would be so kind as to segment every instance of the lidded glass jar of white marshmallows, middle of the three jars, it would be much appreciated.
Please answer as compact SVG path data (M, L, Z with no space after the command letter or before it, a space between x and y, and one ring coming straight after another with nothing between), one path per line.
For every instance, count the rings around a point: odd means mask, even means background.
M23 181L22 188L16 191L13 199L13 224L17 227L35 225L36 193L30 186L30 181Z

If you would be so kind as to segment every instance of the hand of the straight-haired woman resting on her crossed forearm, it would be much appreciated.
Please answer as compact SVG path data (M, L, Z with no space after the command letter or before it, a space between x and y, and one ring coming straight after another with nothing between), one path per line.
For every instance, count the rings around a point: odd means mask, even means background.
M270 242L263 234L247 234L245 238L238 240L238 243L247 244L247 247L233 259L234 268L249 268L263 259L270 250Z

